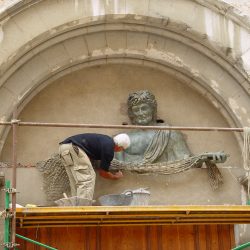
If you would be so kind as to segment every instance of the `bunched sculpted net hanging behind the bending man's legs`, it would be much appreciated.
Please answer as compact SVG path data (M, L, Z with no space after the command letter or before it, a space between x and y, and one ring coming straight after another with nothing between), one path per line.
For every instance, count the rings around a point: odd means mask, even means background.
M43 174L44 191L49 202L61 199L63 193L70 193L68 175L59 154L38 162L36 167Z

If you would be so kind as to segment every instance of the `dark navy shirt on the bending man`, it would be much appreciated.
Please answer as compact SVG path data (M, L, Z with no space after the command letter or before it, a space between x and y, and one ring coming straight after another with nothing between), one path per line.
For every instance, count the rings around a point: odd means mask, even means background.
M100 160L100 167L108 171L114 158L115 143L113 138L102 134L78 134L71 136L60 144L72 143L81 148L90 159Z

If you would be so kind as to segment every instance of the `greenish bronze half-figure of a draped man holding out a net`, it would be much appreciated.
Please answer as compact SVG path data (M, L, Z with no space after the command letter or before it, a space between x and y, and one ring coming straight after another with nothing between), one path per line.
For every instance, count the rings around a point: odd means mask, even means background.
M127 100L131 123L142 126L163 126L157 120L157 101L148 90L131 93ZM174 174L206 164L213 189L222 183L222 175L215 165L227 159L224 152L206 152L192 155L179 131L138 129L127 133L131 145L124 152L117 153L112 162L113 169L138 173Z

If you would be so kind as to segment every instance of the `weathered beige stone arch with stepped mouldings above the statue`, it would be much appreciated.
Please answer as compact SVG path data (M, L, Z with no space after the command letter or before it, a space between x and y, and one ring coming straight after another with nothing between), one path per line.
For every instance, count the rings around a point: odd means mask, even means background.
M86 5L80 13L77 2L20 1L1 14L1 120L10 119L15 104L21 111L46 84L72 70L96 64L130 63L167 71L196 88L219 108L230 125L250 124L246 115L250 107L245 63L248 47L219 34L231 27L241 32L247 43L249 25L229 6L216 5L217 1L181 1L186 11L197 10L203 21L215 15L218 20L212 18L212 22L226 23L212 34L206 25L182 15L183 10L174 16L171 10L178 7L175 1L145 0L142 5L128 0L119 4L110 1L110 5L96 1L98 6ZM60 15L56 8L68 8L68 15ZM56 17L44 22L44 10L47 15L56 11ZM18 22L24 25L22 30ZM25 28L33 22L37 22L37 30L28 32ZM16 44L12 46L8 42L13 31ZM17 39L21 34L22 38ZM119 39L114 39L114 34L119 34ZM3 144L6 130L2 129L1 134Z

